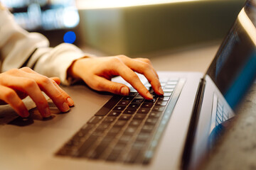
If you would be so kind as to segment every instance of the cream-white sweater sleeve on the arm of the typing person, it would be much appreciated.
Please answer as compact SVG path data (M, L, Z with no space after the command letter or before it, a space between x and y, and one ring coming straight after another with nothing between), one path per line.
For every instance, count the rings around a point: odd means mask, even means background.
M66 85L71 82L67 77L68 67L80 57L92 56L75 45L63 43L49 47L47 38L23 30L3 8L0 8L0 40L1 72L26 66L47 77L60 77Z

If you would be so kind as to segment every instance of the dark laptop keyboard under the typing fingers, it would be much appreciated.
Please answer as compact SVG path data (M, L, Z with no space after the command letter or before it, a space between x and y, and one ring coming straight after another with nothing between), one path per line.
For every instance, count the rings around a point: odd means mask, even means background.
M147 101L131 89L113 96L57 152L57 155L129 164L149 164L171 117L185 79L161 80L164 96Z

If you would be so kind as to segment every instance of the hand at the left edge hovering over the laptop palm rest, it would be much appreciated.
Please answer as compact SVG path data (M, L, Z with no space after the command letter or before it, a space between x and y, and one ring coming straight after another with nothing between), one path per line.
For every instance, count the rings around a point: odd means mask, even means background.
M0 104L10 104L18 115L28 117L28 110L21 99L30 96L41 115L49 117L48 102L41 92L44 91L60 111L67 112L74 102L58 84L60 79L45 77L28 67L11 69L0 74Z

